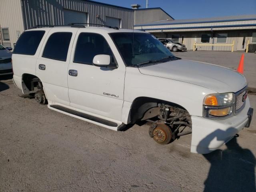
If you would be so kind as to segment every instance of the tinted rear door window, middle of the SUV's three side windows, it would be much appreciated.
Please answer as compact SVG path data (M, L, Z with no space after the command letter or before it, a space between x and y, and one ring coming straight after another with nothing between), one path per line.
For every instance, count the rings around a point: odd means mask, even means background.
M71 32L53 33L44 47L42 57L66 61L71 37Z

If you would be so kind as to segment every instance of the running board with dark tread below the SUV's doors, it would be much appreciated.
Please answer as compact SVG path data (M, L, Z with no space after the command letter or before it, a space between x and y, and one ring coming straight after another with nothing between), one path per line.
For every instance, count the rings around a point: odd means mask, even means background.
M113 127L113 128L118 127L118 124L116 122L112 122L112 121L105 120L105 119L102 119L102 118L98 118L98 117L88 115L88 114L85 114L85 113L82 113L82 112L78 112L76 110L72 110L72 109L69 109L69 108L66 108L66 107L63 107L63 106L60 106L60 105L50 105L49 108L53 108L53 109L59 110L60 112L62 111L62 112L71 114L73 116L83 118L84 120L90 120L90 121L93 121L93 122L97 122L98 124L105 125L107 128L108 127Z

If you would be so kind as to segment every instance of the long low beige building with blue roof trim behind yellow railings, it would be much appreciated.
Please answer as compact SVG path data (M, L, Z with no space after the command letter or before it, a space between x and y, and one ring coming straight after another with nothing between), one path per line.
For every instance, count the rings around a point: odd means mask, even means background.
M228 16L218 18L160 20L135 24L135 29L145 30L157 38L171 38L174 42L186 44L188 50L230 51L245 50L249 44L256 44L256 15ZM206 46L208 45L209 46Z

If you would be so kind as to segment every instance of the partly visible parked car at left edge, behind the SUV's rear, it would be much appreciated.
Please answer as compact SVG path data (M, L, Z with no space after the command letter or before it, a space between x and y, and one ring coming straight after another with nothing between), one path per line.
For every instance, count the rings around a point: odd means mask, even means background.
M12 74L12 50L0 44L0 75Z

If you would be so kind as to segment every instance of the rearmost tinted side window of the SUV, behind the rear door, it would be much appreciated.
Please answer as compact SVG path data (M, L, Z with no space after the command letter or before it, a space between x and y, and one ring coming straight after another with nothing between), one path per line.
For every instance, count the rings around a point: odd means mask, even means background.
M34 55L45 31L25 31L18 39L13 54Z

